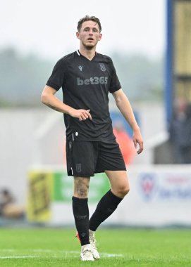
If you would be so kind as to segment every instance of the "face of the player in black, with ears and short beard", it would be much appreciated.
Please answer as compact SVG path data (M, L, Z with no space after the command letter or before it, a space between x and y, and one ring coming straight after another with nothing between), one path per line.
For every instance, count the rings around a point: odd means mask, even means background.
M102 34L99 32L97 23L88 20L82 23L80 32L77 32L76 36L80 39L81 44L85 46L85 48L91 49L101 40Z

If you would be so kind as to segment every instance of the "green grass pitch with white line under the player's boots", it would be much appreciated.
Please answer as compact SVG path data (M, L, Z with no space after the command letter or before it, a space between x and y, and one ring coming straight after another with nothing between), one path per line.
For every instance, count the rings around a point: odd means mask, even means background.
M99 261L80 261L75 230L0 228L0 266L191 267L191 230L101 228Z

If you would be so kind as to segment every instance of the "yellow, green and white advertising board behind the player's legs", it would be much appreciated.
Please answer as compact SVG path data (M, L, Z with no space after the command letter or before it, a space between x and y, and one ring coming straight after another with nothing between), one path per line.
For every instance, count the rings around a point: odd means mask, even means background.
M109 190L104 174L91 178L89 202L97 203ZM31 169L27 183L27 219L33 222L70 223L73 177L55 167ZM68 215L70 214L70 216Z

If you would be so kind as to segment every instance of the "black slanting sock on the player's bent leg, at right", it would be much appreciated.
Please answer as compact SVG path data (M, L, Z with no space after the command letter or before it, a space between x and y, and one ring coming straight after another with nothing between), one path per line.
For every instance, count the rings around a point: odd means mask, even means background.
M116 210L121 200L123 198L113 195L109 190L97 204L97 208L90 219L90 230L97 230L102 221L105 221Z

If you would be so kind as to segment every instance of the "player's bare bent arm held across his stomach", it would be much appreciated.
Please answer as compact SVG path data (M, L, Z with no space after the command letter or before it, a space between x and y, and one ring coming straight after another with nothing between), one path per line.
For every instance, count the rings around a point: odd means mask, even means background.
M44 105L47 105L49 108L52 108L53 110L66 113L72 117L78 118L80 121L85 119L92 119L92 116L90 115L90 110L76 110L75 108L64 104L61 100L56 98L56 92L56 89L46 85L41 95L42 103Z

